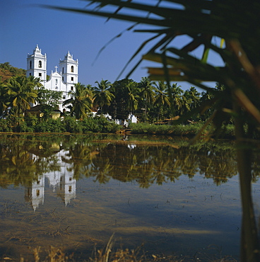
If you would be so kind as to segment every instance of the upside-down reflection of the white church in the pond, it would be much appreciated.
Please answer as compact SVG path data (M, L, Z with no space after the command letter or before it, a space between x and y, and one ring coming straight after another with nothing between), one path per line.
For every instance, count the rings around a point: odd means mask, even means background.
M65 156L66 152L61 150L56 156L58 157L59 171L51 171L44 173L37 178L37 181L32 182L31 186L25 188L25 201L32 205L35 211L40 204L45 202L45 186L49 185L53 188L53 192L61 198L64 205L68 205L71 199L76 198L76 179L73 178L73 173L68 171L68 164L61 160L61 156ZM32 158L37 158L32 154Z

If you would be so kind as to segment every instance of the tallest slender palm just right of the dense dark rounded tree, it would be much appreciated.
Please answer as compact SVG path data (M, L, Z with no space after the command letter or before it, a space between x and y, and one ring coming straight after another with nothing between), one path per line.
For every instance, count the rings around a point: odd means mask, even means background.
M139 83L139 88L141 89L141 97L145 101L145 118L144 122L146 123L147 116L147 104L153 103L155 100L155 93L153 91L153 82L148 79L148 77L142 77Z

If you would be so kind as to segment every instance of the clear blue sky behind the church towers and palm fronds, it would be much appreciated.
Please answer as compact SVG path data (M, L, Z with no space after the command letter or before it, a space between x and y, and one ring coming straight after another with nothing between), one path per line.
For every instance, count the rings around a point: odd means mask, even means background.
M151 36L127 31L107 45L95 59L102 47L131 23L112 20L106 23L105 18L50 10L37 4L84 8L86 3L76 0L1 0L0 63L10 62L13 67L26 69L28 53L32 54L39 45L42 54L47 54L47 74L59 66L59 59L64 59L69 51L74 59L78 59L78 81L82 84L95 86L95 81L102 79L113 83L131 55ZM137 59L119 79L126 76ZM142 76L148 76L148 65L148 62L142 62L130 78L140 81ZM182 82L178 85L182 89L191 86Z

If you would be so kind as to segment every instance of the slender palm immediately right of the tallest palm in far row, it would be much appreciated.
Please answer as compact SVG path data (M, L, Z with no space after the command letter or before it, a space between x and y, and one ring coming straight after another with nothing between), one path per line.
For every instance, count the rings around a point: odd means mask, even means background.
M155 101L154 105L158 106L158 120L160 120L160 113L163 112L165 106L170 106L170 100L167 94L167 84L163 81L155 83Z

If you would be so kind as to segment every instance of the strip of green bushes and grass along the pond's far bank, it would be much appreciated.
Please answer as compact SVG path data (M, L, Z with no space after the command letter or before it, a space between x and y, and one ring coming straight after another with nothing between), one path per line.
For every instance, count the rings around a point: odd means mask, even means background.
M170 125L171 124L171 125ZM33 115L28 115L24 120L19 119L0 119L0 132L70 132L76 134L87 134L90 132L101 133L122 133L143 135L170 135L194 137L203 129L203 123L176 124L168 125L148 124L148 123L127 123L126 126L118 125L113 120L105 117L95 116L76 120L67 116L66 118L47 118L39 119ZM201 132L202 136L210 135L226 139L234 139L235 130L233 125L223 125L218 131L213 125L208 125Z

